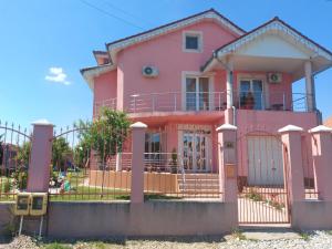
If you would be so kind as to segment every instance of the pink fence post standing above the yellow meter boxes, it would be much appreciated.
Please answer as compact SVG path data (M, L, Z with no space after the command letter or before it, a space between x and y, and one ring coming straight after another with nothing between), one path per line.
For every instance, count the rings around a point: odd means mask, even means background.
M28 191L49 191L53 125L46 120L32 123L32 145L28 169Z

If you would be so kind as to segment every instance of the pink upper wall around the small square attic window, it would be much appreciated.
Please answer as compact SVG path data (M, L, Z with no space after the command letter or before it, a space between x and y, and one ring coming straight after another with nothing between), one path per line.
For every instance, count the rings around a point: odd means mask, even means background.
M183 31L203 32L203 52L183 52ZM234 40L235 37L214 22L201 22L154 40L127 48L118 53L118 66L125 72L123 81L124 105L129 105L129 95L137 93L180 92L181 72L199 72L212 51ZM159 70L156 79L142 75L144 65Z

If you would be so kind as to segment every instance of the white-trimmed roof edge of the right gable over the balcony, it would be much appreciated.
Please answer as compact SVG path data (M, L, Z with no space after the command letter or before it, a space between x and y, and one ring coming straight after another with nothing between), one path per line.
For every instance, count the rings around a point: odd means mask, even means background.
M308 49L315 50L321 55L325 56L328 60L332 60L332 52L328 49L323 48L322 45L318 44L317 42L312 41L300 31L295 30L278 17L274 17L270 21L257 27L256 29L242 34L241 37L230 41L227 44L224 44L219 49L215 51L212 56L201 66L201 71L206 71L206 69L210 65L216 56L220 56L221 54L227 54L235 52L238 48L252 41L255 38L261 35L262 33L267 32L269 29L278 29L284 31L288 35L293 37L297 42L302 43Z

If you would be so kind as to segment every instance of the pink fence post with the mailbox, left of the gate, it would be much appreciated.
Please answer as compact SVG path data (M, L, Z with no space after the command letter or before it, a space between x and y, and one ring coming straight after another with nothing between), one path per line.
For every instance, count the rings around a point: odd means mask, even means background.
M224 124L216 131L218 132L218 145L220 145L218 158L221 199L225 203L237 203L237 127Z

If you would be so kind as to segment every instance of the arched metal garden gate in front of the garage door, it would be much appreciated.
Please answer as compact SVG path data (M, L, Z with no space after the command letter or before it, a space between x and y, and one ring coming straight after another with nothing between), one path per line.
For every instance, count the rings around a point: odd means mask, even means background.
M239 224L288 224L287 149L279 136L250 132L238 138Z

